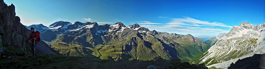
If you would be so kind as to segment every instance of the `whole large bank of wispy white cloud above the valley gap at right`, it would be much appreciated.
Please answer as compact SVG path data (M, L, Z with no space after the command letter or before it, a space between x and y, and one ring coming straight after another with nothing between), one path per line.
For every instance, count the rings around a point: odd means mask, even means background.
M158 17L165 18L165 17ZM196 20L190 17L185 18L170 18L168 23L153 23L150 21L138 21L141 27L146 27L149 30L156 30L159 32L177 33L177 34L194 34L194 35L218 35L219 33L229 32L220 27L232 28L219 22L209 22ZM219 26L219 27L213 27Z

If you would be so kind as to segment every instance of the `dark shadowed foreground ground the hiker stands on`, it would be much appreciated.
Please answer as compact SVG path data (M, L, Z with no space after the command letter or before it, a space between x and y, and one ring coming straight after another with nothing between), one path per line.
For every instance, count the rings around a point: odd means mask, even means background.
M4 46L7 50L2 56L11 56L11 58L0 58L0 69L144 69L149 65L155 65L168 68L182 69L207 69L201 65L194 65L180 60L157 60L157 61L128 61L122 60L112 62L110 60L101 60L97 58L88 58L82 56L53 56L40 54L36 59L32 55L25 57L25 51L19 48Z

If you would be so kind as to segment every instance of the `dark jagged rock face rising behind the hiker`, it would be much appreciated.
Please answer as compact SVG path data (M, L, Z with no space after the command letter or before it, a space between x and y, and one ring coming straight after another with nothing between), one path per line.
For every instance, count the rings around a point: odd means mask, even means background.
M3 44L12 44L21 46L23 40L26 38L27 35L25 26L20 23L20 18L15 16L15 6L11 4L7 6L3 0L0 1L0 30L4 33ZM29 33L29 32L28 32ZM23 45L23 44L22 44Z

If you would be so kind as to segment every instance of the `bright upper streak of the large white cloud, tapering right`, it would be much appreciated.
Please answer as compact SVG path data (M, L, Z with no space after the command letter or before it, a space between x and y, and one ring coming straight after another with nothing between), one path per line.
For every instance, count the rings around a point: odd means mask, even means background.
M171 21L166 24L168 25L189 25L189 26L220 26L220 27L232 28L231 26L225 25L223 23L201 21L201 20L190 18L190 17L172 18Z

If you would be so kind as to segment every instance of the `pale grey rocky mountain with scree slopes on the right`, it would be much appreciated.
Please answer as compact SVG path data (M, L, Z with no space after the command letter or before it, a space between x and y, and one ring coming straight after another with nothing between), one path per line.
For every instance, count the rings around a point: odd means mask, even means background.
M228 33L210 40L210 49L197 55L193 60L205 63L208 67L228 68L238 59L265 53L265 23L252 25L247 22L234 26ZM217 64L216 64L217 63Z

